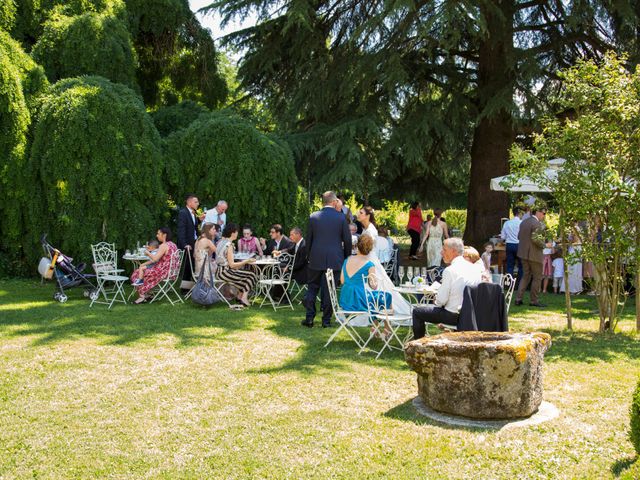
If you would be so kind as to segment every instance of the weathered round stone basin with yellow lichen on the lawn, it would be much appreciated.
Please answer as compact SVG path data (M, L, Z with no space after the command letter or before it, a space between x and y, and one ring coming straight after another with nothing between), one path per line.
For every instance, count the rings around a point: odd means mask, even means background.
M409 342L405 359L433 410L470 418L528 417L542 402L546 333L451 332Z

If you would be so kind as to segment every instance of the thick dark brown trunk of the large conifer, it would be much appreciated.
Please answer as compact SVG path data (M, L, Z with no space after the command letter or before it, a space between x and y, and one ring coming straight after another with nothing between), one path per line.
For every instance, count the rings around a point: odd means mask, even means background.
M509 198L489 189L492 177L509 171L509 148L515 140L511 104L514 91L513 1L481 2L487 34L478 51L480 118L471 146L471 178L467 201L466 244L480 247L500 232L500 219L509 214ZM496 100L505 106L487 111Z

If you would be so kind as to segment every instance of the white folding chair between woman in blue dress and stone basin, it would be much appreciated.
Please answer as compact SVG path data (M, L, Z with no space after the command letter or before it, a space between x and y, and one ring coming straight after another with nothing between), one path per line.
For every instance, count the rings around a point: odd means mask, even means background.
M364 291L367 295L367 309L369 310L369 316L371 319L378 320L378 324L375 325L374 323L374 328L371 330L369 338L360 349L360 353L367 348L368 344L376 336L376 333L381 336L383 341L382 348L377 352L378 354L376 355L376 359L380 358L382 352L387 348L404 351L405 343L413 334L411 330L411 327L413 326L411 315L393 313L393 306L387 305L387 298L391 298L391 292L387 292L384 288L380 290L374 290L371 288L372 285L375 285L376 287L379 285L375 275L366 275L363 277L362 281L364 282ZM388 325L391 330L390 335L386 337L382 335L385 324ZM409 327L409 331L401 340L398 336L398 331L403 327ZM393 342L397 343L397 346L393 345Z

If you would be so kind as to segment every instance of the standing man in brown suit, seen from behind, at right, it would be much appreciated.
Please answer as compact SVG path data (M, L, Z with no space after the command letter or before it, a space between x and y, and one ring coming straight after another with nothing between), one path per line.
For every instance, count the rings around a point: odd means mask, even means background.
M522 261L523 275L518 287L516 305L522 305L522 297L531 281L531 294L529 305L532 307L544 307L538 301L540 282L542 281L542 262L544 255L542 249L545 243L545 226L542 223L547 209L544 207L532 207L532 215L523 220L518 233L518 258Z

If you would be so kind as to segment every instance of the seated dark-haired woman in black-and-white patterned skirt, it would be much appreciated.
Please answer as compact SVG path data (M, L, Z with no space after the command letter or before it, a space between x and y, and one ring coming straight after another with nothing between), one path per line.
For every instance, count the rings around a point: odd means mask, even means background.
M238 226L228 223L222 230L222 239L218 242L216 252L216 276L218 280L235 286L240 292L238 300L245 306L249 306L249 292L256 285L257 277L254 272L243 270L242 267L255 262L254 258L248 258L241 262L233 259L233 241L238 238Z

